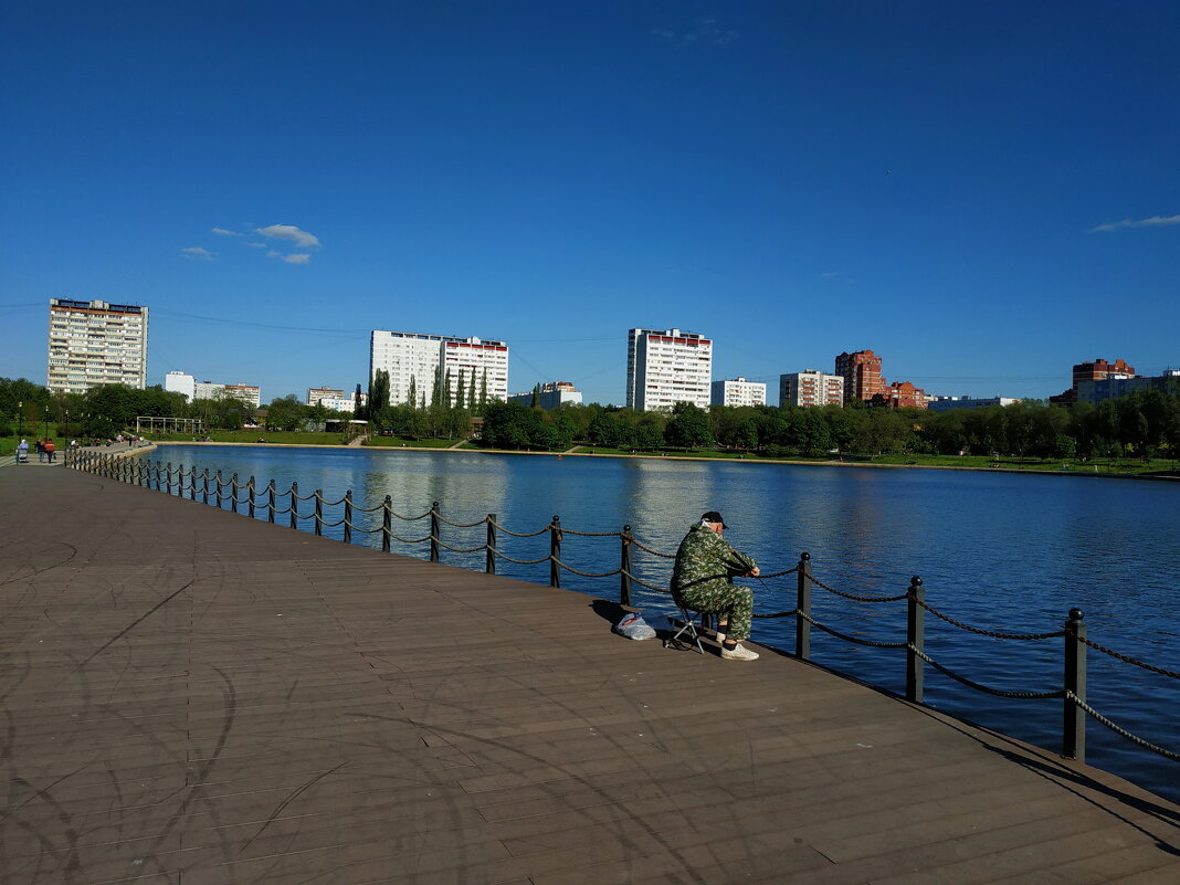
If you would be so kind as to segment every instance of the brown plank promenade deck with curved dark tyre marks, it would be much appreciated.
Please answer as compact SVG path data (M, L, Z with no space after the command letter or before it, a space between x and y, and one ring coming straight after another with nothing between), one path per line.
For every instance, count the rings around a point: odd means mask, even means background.
M0 881L1180 881L1175 805L616 611L5 467Z

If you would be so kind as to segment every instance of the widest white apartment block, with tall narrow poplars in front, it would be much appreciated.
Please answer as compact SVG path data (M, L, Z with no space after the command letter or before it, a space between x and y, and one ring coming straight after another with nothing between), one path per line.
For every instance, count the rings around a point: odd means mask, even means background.
M435 372L445 379L447 371L452 402L458 399L460 372L465 394L471 389L474 373L477 396L484 392L485 376L489 400L505 400L509 395L509 346L503 341L374 329L369 341L369 378L378 369L389 373L389 404L394 406L409 401L411 382L419 405L424 401L431 405Z

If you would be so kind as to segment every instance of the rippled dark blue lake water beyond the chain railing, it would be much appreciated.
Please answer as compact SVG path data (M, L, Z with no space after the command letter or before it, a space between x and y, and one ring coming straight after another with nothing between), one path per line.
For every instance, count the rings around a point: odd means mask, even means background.
M922 576L927 602L977 628L1002 632L1058 630L1070 608L1081 608L1089 638L1158 667L1180 669L1180 485L1067 476L935 470L791 466L668 459L579 458L387 450L243 448L169 446L152 460L185 468L275 480L286 492L323 490L336 500L353 490L358 506L388 494L404 516L439 502L444 517L472 523L487 513L517 532L536 531L559 514L565 529L614 532L630 524L635 537L675 552L688 526L706 510L720 510L726 537L753 555L763 572L793 568L812 556L814 576L860 595L897 595ZM199 499L199 492L198 492ZM263 497L264 499L264 497ZM280 494L278 506L289 497ZM228 503L225 505L229 506ZM240 507L244 511L244 505ZM303 513L310 502L301 502ZM327 509L324 519L340 518ZM258 517L266 518L264 510ZM277 517L286 522L287 517ZM380 513L354 518L380 525ZM310 531L310 520L301 522ZM405 538L428 535L428 522L394 520ZM341 529L324 535L340 537ZM483 544L485 529L444 526L452 546ZM354 543L380 546L380 536ZM549 553L549 536L511 538L499 549L517 559ZM426 557L425 544L393 543L396 553ZM617 538L566 533L562 558L582 571L618 566ZM442 562L483 569L484 555L442 551ZM503 575L548 583L549 564L502 562ZM666 586L670 562L635 553L635 571ZM617 597L618 578L565 573L563 586ZM756 611L794 608L795 577L753 582ZM668 597L636 588L634 602L656 621ZM858 604L820 588L813 615L863 638L905 640L905 603ZM663 625L660 623L658 625ZM1062 681L1062 640L1017 642L972 635L927 615L926 651L962 675L1007 690L1054 690ZM559 625L555 625L559 629ZM755 621L754 640L791 650L791 621ZM903 691L904 651L851 645L812 631L820 664ZM1180 680L1160 676L1090 650L1090 706L1168 749L1180 749ZM1060 750L1060 700L1008 700L961 686L926 668L926 702L1031 743ZM1180 762L1172 762L1090 721L1087 761L1161 795L1180 800Z

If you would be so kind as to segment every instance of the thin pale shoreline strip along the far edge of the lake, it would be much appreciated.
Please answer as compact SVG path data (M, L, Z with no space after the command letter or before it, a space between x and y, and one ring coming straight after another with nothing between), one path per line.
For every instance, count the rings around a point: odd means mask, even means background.
M1043 477L1090 477L1100 479L1147 479L1165 483L1180 481L1180 476L1161 477L1142 473L1094 473L1084 470L1020 470L1017 467L958 467L949 464L871 464L867 461L802 461L789 458L709 458L690 457L682 454L623 454L617 452L520 452L517 450L503 448L450 448L438 446L348 446L348 445L315 445L308 442L196 442L182 440L151 440L155 446L235 446L241 448L328 448L349 450L363 452L452 452L466 454L499 454L499 455L527 455L535 458L636 458L645 460L675 460L675 461L712 461L717 464L786 464L798 467L867 467L870 470L944 470L966 471L972 473L1016 473L1020 476L1043 476Z

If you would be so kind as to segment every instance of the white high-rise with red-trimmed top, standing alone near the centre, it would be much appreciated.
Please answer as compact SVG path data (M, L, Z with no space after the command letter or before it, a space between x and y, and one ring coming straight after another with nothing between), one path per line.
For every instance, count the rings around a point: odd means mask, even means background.
M640 412L677 402L709 407L713 342L695 332L631 329L627 333L627 405Z

